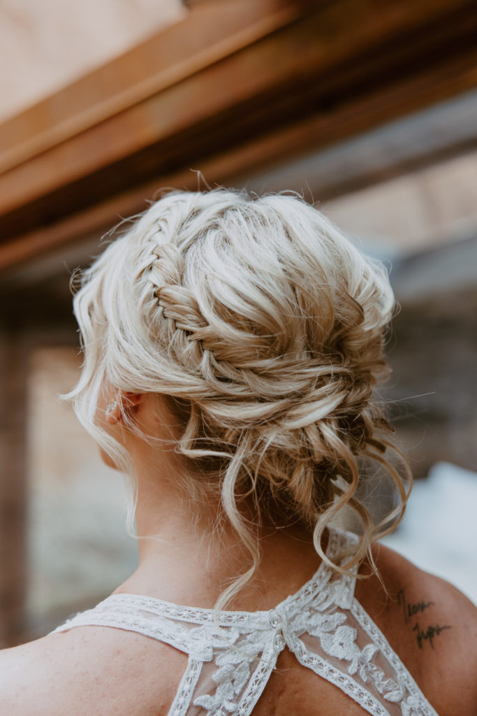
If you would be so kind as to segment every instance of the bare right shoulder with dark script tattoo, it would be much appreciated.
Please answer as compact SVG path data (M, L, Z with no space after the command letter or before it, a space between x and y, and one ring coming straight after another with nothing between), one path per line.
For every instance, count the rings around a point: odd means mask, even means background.
M359 581L358 601L440 716L477 712L476 607L389 548L375 545L373 557L380 579Z

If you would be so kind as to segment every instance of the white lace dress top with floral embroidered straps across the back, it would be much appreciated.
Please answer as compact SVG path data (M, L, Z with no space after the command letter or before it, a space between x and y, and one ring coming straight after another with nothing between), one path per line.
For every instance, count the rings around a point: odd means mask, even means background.
M330 558L355 539L331 531ZM177 606L114 594L55 629L126 629L188 654L169 716L247 716L285 647L373 716L437 716L382 632L354 598L355 579L321 563L296 594L270 611Z

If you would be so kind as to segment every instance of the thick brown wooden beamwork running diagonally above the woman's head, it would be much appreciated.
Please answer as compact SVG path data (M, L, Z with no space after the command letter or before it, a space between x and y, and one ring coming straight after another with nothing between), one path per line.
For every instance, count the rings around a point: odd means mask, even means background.
M0 126L0 270L197 187L191 169L227 185L468 92L476 37L473 0L192 3Z

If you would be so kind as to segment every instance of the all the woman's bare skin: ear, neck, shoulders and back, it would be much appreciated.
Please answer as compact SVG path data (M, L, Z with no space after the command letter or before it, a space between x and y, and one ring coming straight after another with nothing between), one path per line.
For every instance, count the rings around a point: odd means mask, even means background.
M108 414L106 406L117 401ZM172 450L148 445L127 428L125 415L149 435L171 437L174 418L149 395L104 390L97 422L124 445L137 472L139 568L116 590L177 604L212 607L246 556L232 529L210 534L217 507L197 519L174 477L190 470ZM104 456L105 457L105 456ZM415 678L440 716L477 711L476 609L453 586L428 575L389 549L373 551L381 580L360 568L355 596ZM262 533L262 561L252 584L228 609L270 609L302 586L320 560L299 527ZM177 565L180 569L177 569ZM365 575L369 575L365 578ZM384 585L384 586L383 586ZM400 596L398 596L400 594ZM430 604L432 602L432 604ZM423 606L427 605L427 606ZM406 614L410 609L412 617ZM429 639L413 629L451 625ZM1 713L8 716L166 715L187 664L167 644L132 632L79 627L0 652ZM258 716L363 716L332 684L301 667L285 649L255 707Z

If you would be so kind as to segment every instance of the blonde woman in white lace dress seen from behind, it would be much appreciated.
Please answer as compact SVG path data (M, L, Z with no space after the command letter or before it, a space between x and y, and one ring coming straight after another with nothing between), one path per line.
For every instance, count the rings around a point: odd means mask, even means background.
M74 306L70 397L130 475L139 569L1 653L1 712L475 713L473 606L375 542L409 486L373 397L383 267L290 195L175 192ZM373 465L399 498L377 526L358 498ZM343 509L360 539L333 528Z

